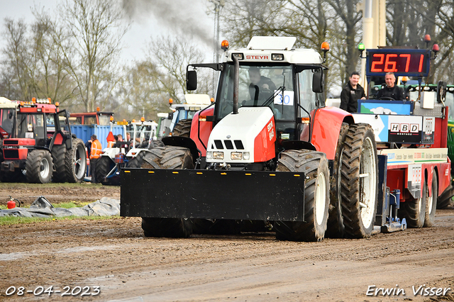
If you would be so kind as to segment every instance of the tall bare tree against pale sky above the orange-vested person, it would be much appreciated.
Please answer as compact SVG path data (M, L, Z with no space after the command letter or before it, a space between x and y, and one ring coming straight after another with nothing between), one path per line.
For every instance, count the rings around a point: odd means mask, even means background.
M128 30L116 0L66 0L60 14L72 38L74 52L65 60L86 111L109 102L118 83L121 39Z

